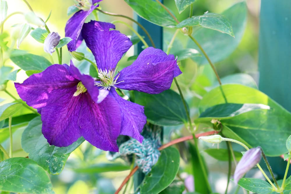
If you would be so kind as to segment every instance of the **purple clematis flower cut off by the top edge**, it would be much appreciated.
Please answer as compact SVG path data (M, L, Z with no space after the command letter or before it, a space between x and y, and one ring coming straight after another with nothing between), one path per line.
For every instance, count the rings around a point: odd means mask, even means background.
M94 4L100 1L102 0L78 0L77 7L81 10L75 13L65 26L65 36L72 38L71 42L68 43L70 52L75 51L81 45L83 38L80 33L83 24L93 10L99 6L98 4L94 6Z

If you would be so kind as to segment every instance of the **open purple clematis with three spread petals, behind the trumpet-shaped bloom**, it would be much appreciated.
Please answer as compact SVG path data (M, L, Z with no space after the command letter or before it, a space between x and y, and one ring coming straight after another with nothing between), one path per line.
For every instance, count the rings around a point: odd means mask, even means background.
M173 78L180 75L175 56L160 49L149 47L142 51L134 63L116 73L116 65L123 54L132 46L129 38L106 22L91 21L84 24L82 37L95 56L99 89L109 90L109 96L119 104L121 135L131 136L142 142L141 130L146 123L143 106L120 97L116 88L158 94L171 87ZM112 98L110 100L112 100Z

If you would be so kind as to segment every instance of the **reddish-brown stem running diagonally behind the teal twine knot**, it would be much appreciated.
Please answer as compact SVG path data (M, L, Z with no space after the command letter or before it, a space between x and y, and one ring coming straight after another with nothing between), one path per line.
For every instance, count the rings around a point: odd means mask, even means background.
M196 134L195 137L198 138L200 136L209 136L209 135L214 135L214 134L217 134L217 131L208 131L205 133ZM169 146L174 145L176 143L180 143L180 142L191 140L191 139L193 139L193 136L185 136L185 137L181 137L178 139L174 139L174 140L170 141L169 143L166 143L166 144L162 145L161 147L159 147L158 150L162 150L162 149L165 149L166 147L169 147ZM123 186L127 183L127 181L129 181L130 177L132 175L134 175L134 173L136 172L137 169L139 169L138 166L134 167L134 169L129 173L129 175L127 175L127 177L125 177L122 184L119 186L119 188L116 190L116 192L114 194L118 194L121 191Z

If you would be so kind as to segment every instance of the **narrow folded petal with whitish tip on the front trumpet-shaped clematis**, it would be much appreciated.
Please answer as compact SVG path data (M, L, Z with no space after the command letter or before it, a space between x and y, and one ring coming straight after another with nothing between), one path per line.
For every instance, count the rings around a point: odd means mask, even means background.
M95 80L89 75L81 74L72 61L70 63L70 73L74 78L82 82L95 103L102 102L102 100L108 95L108 90L98 90L94 84Z

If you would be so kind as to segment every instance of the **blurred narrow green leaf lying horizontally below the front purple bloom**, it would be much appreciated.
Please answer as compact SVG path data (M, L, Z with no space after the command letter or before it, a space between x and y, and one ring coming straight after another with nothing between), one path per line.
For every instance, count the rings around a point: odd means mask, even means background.
M101 173L101 172L118 172L118 171L124 171L129 170L130 167L128 165L125 165L123 163L99 163L99 164L93 164L88 165L85 167L76 167L73 168L75 172L80 173Z

